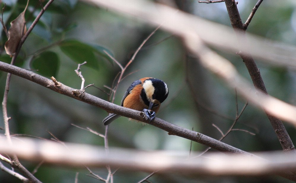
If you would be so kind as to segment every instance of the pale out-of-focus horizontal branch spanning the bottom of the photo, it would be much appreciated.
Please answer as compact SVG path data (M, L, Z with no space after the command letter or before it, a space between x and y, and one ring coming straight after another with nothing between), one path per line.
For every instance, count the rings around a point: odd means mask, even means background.
M278 174L296 168L296 159L284 152L256 153L257 156L238 154L208 153L205 157L188 158L188 152L149 151L110 148L109 154L104 147L85 144L43 141L23 137L12 139L13 146L0 138L1 153L14 154L29 161L59 164L70 167L104 167L110 164L130 170L161 172L184 172L202 175L249 175L258 176ZM197 155L197 154L194 154ZM260 158L258 157L260 156Z

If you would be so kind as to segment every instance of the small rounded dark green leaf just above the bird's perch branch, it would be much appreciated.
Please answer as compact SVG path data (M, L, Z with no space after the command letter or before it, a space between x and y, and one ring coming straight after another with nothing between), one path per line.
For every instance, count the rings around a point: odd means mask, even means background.
M54 52L42 52L32 61L32 67L43 76L56 77L59 68L59 57Z

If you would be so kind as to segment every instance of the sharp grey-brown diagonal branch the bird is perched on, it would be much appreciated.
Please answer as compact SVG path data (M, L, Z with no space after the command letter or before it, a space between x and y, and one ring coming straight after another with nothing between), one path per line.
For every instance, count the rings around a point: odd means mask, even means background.
M101 109L106 110L109 113L119 114L121 116L136 119L138 121L142 121L142 122L146 122L146 123L148 122L148 121L144 120L144 113L143 112L112 104L110 102L107 102L103 99L100 99L98 97L95 97L95 96L87 94L87 93L83 93L80 96L76 96L72 92L72 91L75 91L76 89L70 88L70 87L65 86L63 84L61 84L61 86L56 86L54 84L54 82L51 81L50 79L47 79L43 76L32 73L31 71L16 67L14 65L0 62L0 70L3 70L5 72L9 72L11 74L14 74L16 76L20 76L25 79L28 79L28 80L33 81L37 84L40 84L48 89L51 89L55 92L66 95L68 97L72 97L74 99L80 100L80 101L88 103L90 105L100 107ZM191 131L188 129L184 129L180 126L168 123L167 121L164 121L159 118L155 118L154 121L151 122L150 124L167 131L171 135L177 135L179 137L183 137L183 138L198 142L198 143L206 145L208 147L212 147L213 149L216 149L219 151L252 155L250 153L247 153L243 150L240 150L240 149L237 149L237 148L232 147L230 145L227 145L223 142L220 142L220 141L213 139L211 137L208 137L206 135L203 135L203 134L200 134L198 132Z

